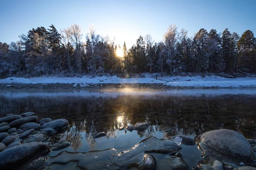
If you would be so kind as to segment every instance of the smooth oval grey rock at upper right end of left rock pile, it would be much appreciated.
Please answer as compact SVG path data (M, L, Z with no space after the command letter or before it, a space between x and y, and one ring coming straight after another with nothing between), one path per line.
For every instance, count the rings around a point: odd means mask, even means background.
M66 119L56 119L51 122L45 123L44 125L41 126L41 129L50 128L58 132L61 130L66 130L68 126L69 124Z

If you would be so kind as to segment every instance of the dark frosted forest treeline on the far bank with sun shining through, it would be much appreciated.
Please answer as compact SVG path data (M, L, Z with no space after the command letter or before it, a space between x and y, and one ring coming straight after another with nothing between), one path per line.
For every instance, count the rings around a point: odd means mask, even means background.
M130 49L93 27L83 36L76 24L60 32L53 25L33 28L19 37L9 45L0 42L1 77L256 72L256 38L250 30L239 37L227 28L222 34L202 28L189 38L186 30L171 25L163 41L154 42L147 34Z

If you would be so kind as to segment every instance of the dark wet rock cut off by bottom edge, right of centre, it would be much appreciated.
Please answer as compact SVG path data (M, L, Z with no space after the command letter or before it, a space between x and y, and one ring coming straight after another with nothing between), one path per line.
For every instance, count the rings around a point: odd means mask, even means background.
M186 162L176 156L166 156L157 162L157 169L159 170L188 170Z

